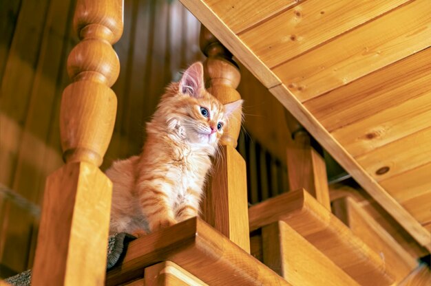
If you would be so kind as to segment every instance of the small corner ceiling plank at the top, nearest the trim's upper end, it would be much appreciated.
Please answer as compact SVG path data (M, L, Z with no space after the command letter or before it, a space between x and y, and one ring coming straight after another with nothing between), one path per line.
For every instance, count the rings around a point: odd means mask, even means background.
M300 1L300 0L299 0ZM220 19L229 26L235 34L251 28L265 19L286 10L298 0L273 0L267 1L261 8L256 9L255 1L247 0L205 0L204 1Z

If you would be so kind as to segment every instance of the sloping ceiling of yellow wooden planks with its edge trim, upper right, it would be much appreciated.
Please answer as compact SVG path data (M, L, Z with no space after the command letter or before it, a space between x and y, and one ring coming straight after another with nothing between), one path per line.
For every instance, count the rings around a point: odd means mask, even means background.
M430 0L181 1L431 248Z

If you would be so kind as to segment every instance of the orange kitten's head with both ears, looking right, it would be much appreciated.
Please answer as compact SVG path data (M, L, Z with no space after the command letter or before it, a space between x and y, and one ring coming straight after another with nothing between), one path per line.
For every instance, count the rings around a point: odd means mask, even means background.
M204 87L202 63L197 62L185 71L178 83L171 85L158 109L165 110L168 126L185 140L215 147L233 111L241 107L242 100L222 104L209 94Z

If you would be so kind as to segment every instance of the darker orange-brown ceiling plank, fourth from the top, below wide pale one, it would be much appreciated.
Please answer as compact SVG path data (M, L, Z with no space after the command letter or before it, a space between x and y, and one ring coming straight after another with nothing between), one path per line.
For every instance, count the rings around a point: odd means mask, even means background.
M427 93L430 69L431 48L428 48L308 100L304 106L328 131L334 131Z

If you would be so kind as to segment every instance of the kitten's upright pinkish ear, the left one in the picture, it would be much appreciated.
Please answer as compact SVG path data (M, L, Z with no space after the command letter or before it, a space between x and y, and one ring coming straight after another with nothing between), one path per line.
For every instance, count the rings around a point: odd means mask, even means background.
M179 86L182 94L189 94L195 98L199 98L202 94L204 86L204 67L202 63L193 63L182 75Z

